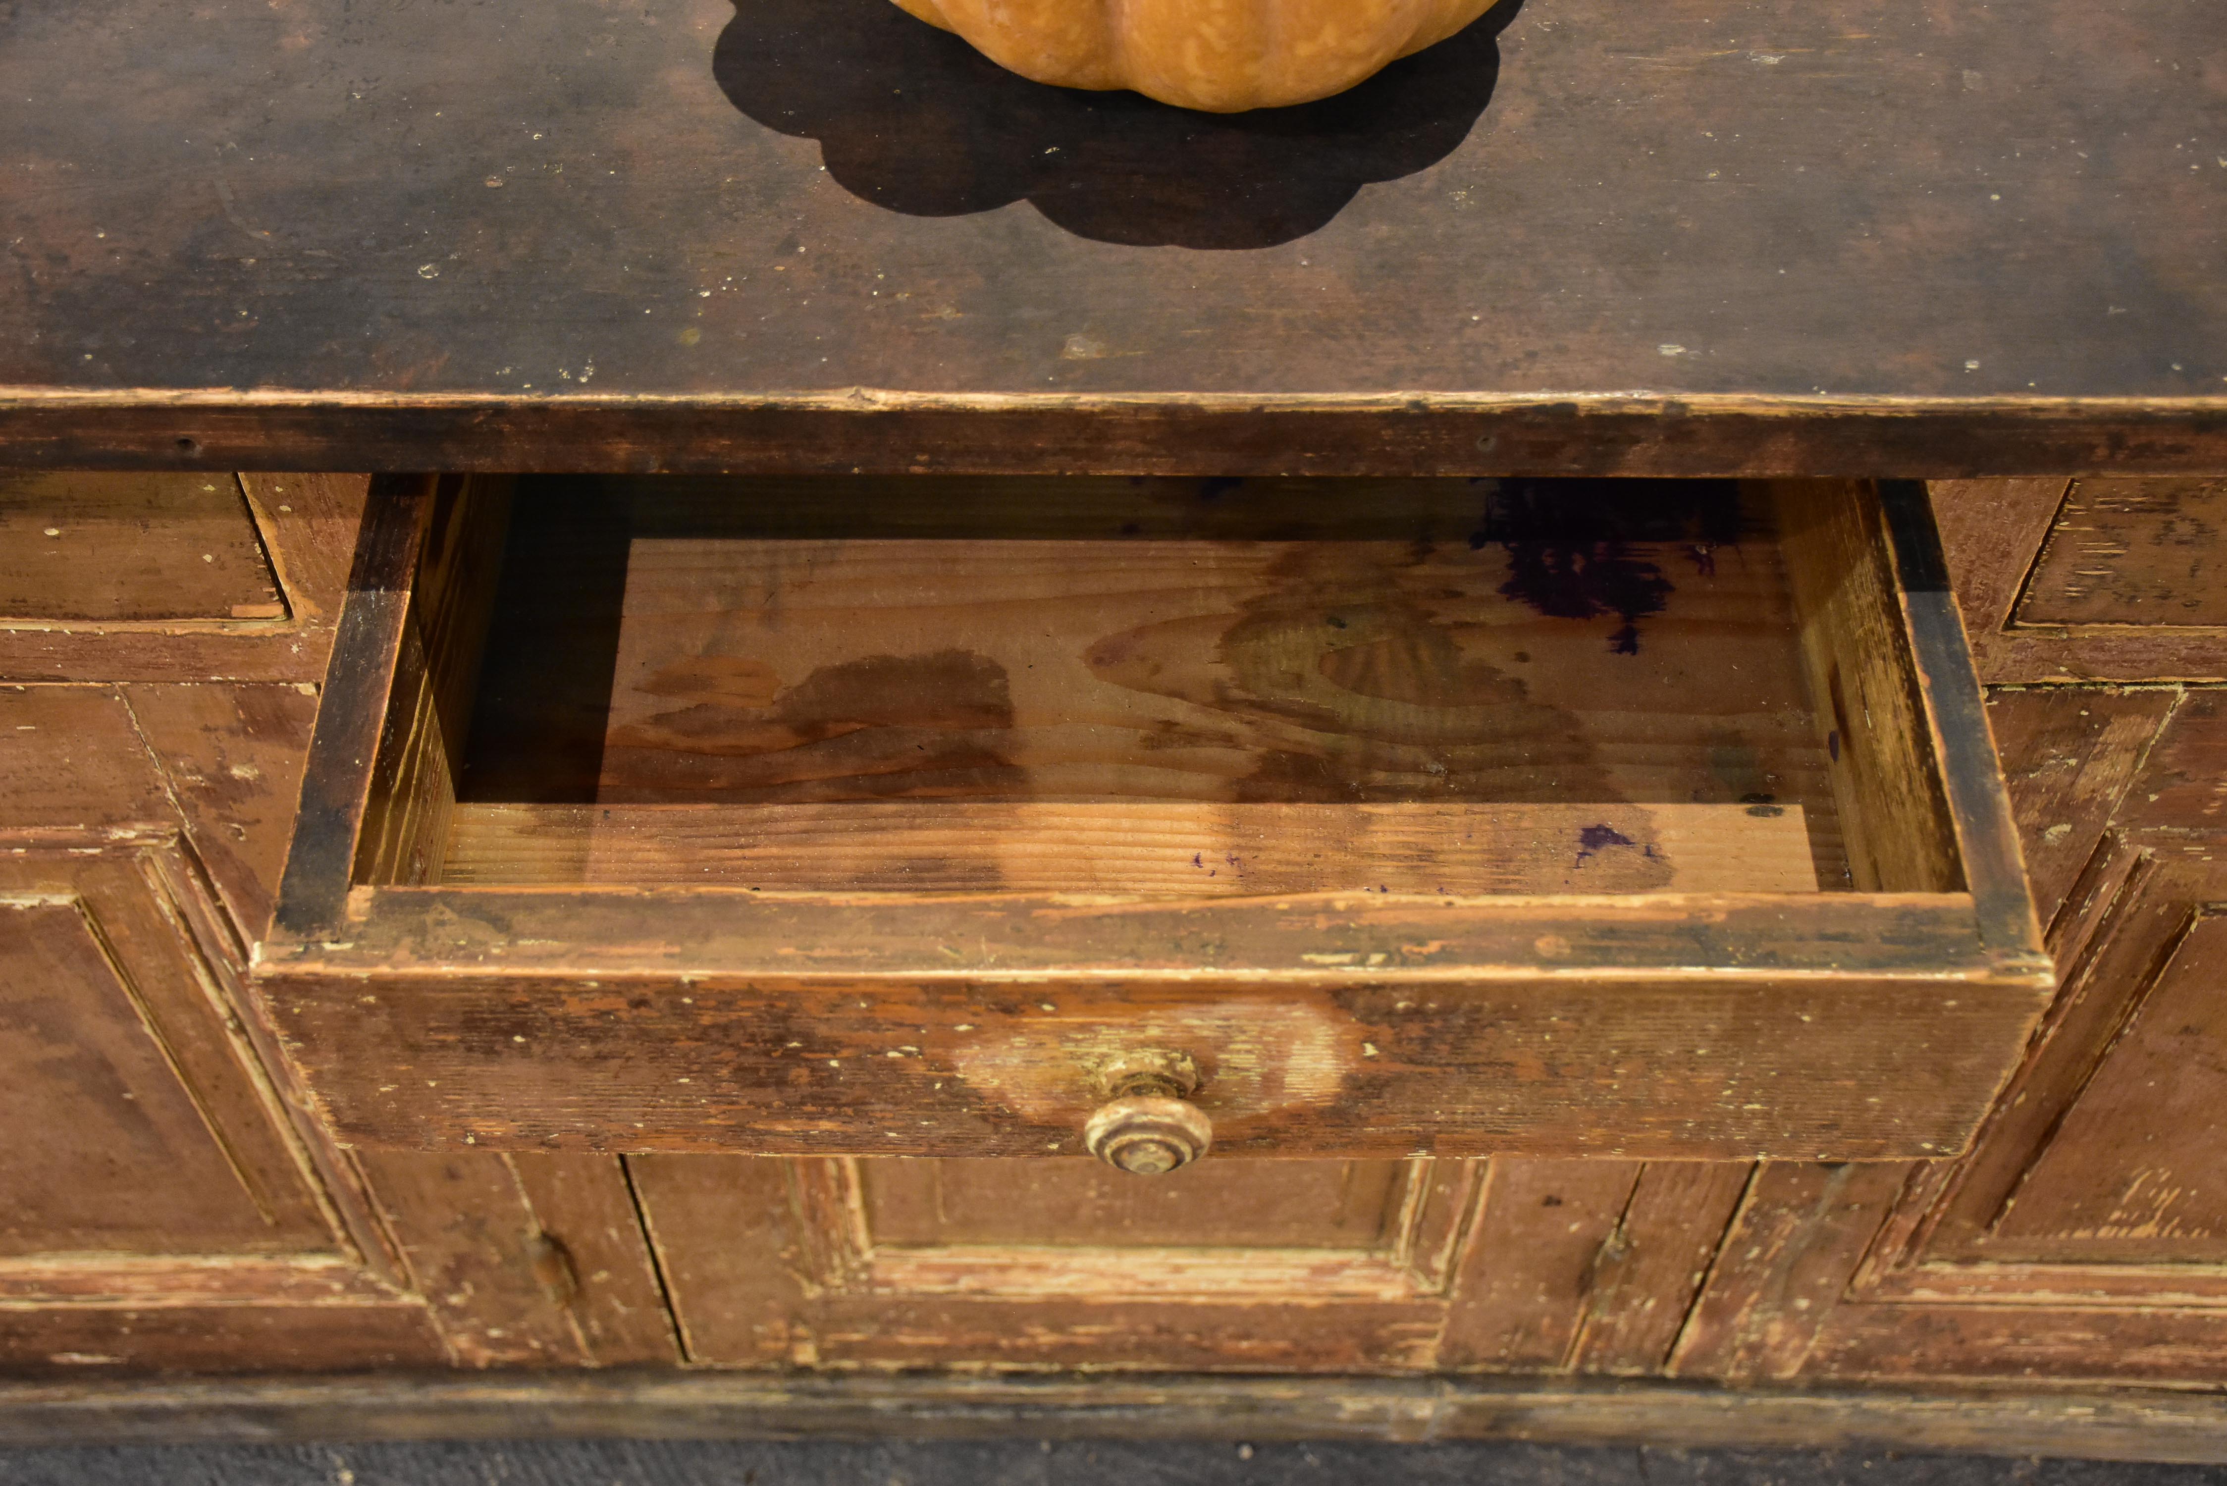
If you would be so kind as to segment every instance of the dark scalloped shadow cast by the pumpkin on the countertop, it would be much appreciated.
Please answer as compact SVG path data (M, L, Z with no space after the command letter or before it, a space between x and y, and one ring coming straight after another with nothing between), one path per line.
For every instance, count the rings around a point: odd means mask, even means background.
M735 0L713 78L748 118L820 140L828 174L891 212L1027 201L1100 243L1274 247L1363 185L1452 154L1492 100L1521 4L1336 98L1252 114L1029 82L891 0Z

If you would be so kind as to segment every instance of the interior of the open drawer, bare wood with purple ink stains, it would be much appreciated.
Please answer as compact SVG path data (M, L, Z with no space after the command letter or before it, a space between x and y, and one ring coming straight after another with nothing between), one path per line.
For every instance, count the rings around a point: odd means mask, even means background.
M1955 891L1860 492L521 479L356 880Z

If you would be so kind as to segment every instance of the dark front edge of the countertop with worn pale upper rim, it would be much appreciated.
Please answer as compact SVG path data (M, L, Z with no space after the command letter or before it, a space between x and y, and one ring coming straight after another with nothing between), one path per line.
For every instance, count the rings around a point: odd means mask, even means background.
M192 450L178 446L178 428L192 430ZM1837 470L1962 481L2227 466L2227 408L2218 399L1900 392L1031 397L848 388L604 399L0 385L0 434L24 468L203 477L379 468L1802 479Z

